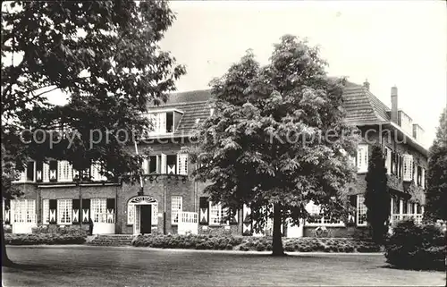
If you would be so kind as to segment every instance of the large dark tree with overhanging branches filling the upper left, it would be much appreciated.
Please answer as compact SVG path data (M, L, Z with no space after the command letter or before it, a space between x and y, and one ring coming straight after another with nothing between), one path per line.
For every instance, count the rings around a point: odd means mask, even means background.
M3 3L2 148L10 160L2 157L2 172L51 157L80 171L95 162L109 179L137 176L132 131L150 127L147 105L165 101L185 72L157 45L173 20L163 1ZM54 90L67 105L47 103ZM25 127L43 129L46 140ZM2 184L2 199L12 186Z

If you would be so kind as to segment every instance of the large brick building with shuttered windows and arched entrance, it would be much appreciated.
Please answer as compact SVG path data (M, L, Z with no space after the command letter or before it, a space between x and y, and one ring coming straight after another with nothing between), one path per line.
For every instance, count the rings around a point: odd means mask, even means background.
M397 88L392 88L392 107L385 106L369 91L369 84L350 84L344 93L347 120L362 131L364 142L352 158L358 168L358 180L350 186L350 202L356 207L350 225L333 218L313 217L299 227L284 224L289 237L347 236L362 232L367 225L363 194L371 143L384 148L388 184L392 190L392 222L413 217L420 221L424 208L427 151L420 141L422 128L398 108ZM88 228L94 233L185 233L231 232L252 235L249 207L242 208L230 221L223 221L225 210L203 194L204 182L194 181L190 173L187 148L198 122L213 113L210 90L173 94L162 106L148 108L155 129L146 143L151 156L145 160L143 189L139 183L105 181L96 166L90 180L80 181L79 173L66 161L39 163L30 161L19 181L23 196L4 201L4 224L15 233L28 233L37 226ZM381 136L382 135L382 136ZM308 211L318 214L318 207L308 204ZM317 218L317 219L316 219ZM267 224L266 233L271 227ZM44 227L45 228L45 227Z

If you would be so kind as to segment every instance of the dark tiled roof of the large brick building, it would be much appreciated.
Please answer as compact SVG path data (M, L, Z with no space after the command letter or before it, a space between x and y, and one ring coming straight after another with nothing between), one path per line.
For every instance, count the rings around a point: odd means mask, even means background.
M150 106L149 110L173 107L182 111L184 114L175 133L179 136L185 135L194 129L197 119L203 121L209 116L211 97L211 89L173 93L165 104L157 107ZM361 85L348 82L343 98L343 106L347 113L346 119L352 124L375 124L390 121L390 108Z

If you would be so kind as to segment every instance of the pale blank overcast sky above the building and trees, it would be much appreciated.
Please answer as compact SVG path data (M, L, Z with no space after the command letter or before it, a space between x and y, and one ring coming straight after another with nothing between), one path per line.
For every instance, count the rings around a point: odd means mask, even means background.
M284 34L321 46L328 72L370 82L387 106L399 106L434 139L447 97L447 22L443 1L173 1L177 20L161 43L187 74L179 91L207 89L248 48L266 63Z

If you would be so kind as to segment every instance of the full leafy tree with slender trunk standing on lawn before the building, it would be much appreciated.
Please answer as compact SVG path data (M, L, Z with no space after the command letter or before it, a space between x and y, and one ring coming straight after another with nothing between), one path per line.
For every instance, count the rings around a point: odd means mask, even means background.
M284 219L299 224L309 200L326 214L342 207L356 146L343 121L343 82L326 76L316 47L289 35L266 66L249 52L212 81L215 112L198 130L196 178L210 182L213 202L248 204L255 230L273 217L273 255L284 254Z

